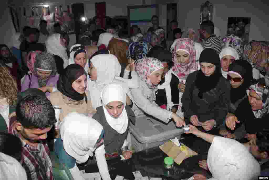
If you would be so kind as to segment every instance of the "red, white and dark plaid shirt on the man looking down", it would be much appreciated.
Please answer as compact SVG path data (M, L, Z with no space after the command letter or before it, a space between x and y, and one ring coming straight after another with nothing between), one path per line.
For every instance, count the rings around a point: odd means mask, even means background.
M16 118L16 117L12 117ZM19 137L15 130L15 122L8 128L8 133ZM21 139L21 138L20 138ZM37 147L32 147L22 141L23 144L23 163L28 180L53 180L52 163L50 151L46 142L38 143Z

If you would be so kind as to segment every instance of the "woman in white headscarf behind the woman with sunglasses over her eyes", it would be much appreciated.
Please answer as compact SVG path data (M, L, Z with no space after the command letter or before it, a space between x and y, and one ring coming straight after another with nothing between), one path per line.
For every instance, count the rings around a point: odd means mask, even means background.
M227 74L229 70L229 65L238 60L239 56L236 50L232 47L225 47L220 52L220 65L221 65L221 74L227 79Z

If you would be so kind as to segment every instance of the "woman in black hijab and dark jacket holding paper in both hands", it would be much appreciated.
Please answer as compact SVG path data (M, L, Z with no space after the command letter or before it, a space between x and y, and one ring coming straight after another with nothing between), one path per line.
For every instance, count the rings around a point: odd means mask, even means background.
M221 75L220 57L211 48L202 51L201 69L187 77L181 102L186 124L202 126L213 133L213 127L222 125L228 112L229 82ZM218 133L218 132L216 132Z

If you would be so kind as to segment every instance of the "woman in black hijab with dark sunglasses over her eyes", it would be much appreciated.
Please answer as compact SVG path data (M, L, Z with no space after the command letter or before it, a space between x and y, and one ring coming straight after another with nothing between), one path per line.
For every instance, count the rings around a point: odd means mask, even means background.
M247 99L246 89L252 83L252 66L247 61L233 61L229 65L227 72L227 80L231 84L231 94L230 94L230 104L228 108L228 114L226 120L234 117L234 113L238 108L238 105L244 100ZM241 139L246 134L245 126L240 124L235 131L231 131L225 127L225 124L220 126L220 132L222 136Z

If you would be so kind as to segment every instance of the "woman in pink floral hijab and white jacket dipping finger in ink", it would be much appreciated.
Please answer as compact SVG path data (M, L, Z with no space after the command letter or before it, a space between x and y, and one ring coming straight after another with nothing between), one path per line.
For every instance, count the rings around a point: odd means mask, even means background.
M146 112L165 123L168 123L172 118L176 126L181 127L186 125L182 118L174 112L160 108L153 102L156 99L155 91L157 91L157 85L161 81L163 71L164 66L157 58L144 57L137 60L136 72L140 78L140 86L137 89L131 89L132 110L136 116Z

